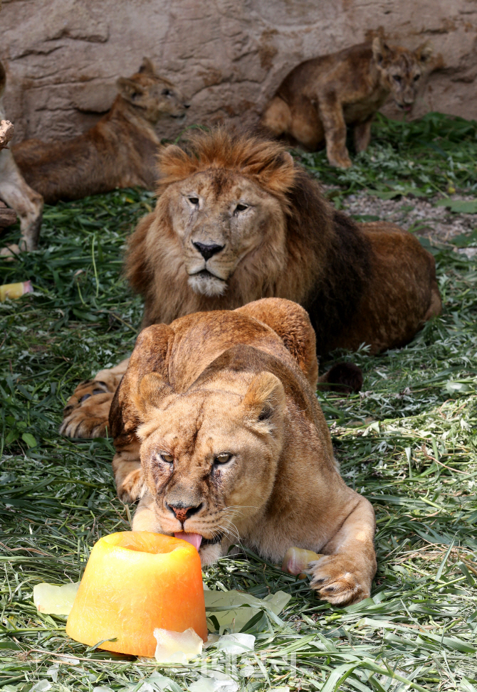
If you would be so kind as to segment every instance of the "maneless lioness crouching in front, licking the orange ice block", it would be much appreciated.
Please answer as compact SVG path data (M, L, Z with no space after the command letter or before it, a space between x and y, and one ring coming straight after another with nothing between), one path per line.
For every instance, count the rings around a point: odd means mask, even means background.
M368 597L374 511L338 472L317 378L308 314L285 299L144 329L110 412L133 530L185 532L203 564L233 543L275 562L310 548L320 597Z

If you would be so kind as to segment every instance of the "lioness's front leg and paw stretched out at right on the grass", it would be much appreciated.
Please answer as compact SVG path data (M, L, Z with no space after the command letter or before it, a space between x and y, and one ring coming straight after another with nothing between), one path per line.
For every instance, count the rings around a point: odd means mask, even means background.
M321 552L323 558L308 565L311 587L333 605L350 605L371 593L376 573L374 510L360 497L340 531Z

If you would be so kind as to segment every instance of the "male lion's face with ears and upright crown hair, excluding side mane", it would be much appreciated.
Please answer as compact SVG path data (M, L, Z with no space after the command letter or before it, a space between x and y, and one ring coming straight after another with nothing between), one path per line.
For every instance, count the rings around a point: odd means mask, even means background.
M189 286L220 296L239 262L267 235L283 240L277 230L284 224L283 192L293 185L293 159L272 142L234 139L226 130L191 143L188 154L168 147L159 157L167 186L159 209L182 247Z

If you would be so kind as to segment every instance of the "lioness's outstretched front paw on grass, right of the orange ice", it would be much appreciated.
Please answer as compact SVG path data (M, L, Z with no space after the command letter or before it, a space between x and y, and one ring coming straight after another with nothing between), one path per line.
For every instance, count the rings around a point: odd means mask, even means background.
M369 598L369 575L357 570L350 555L324 555L310 563L306 571L311 575L310 587L333 605L350 605Z

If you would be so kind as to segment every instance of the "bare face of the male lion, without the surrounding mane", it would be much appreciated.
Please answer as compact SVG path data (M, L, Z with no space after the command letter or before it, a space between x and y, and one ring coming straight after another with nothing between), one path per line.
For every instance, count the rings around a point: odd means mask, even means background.
M231 171L197 173L165 196L189 286L205 296L224 294L239 262L251 259L271 229L285 223L276 198Z

